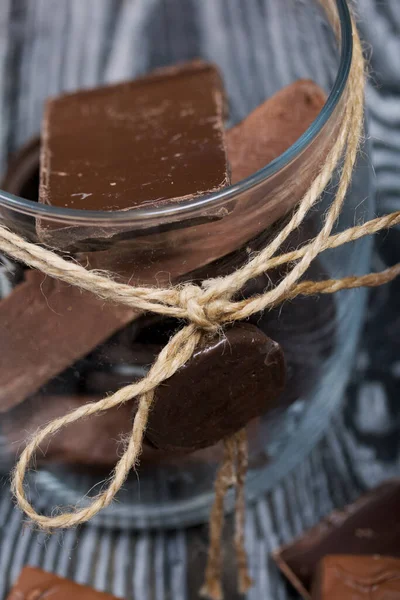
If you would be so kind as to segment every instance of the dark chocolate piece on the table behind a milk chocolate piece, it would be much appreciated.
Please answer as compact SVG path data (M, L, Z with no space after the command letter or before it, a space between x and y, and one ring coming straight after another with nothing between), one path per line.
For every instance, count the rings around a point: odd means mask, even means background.
M309 598L317 565L330 554L400 557L400 479L390 480L283 546L274 558L295 588Z

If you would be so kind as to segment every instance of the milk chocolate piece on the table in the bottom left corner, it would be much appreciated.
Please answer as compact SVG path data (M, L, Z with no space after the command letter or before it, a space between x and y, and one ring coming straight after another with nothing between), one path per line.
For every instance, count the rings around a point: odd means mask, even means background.
M111 594L97 592L86 585L47 573L34 567L24 567L7 600L117 600Z

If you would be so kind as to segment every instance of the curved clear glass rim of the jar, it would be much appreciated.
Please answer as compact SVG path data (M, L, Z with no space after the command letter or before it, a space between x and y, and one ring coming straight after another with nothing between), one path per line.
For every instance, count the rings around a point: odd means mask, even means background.
M148 225L150 221L158 221L159 219L180 220L187 218L189 215L193 216L193 214L196 214L198 211L210 210L211 208L214 209L220 204L235 200L238 195L251 190L269 179L301 154L313 142L324 125L329 121L342 98L351 67L353 36L347 0L335 0L335 3L338 11L341 33L340 63L335 82L327 101L313 123L311 123L308 129L292 146L268 165L253 173L250 177L212 194L207 194L183 202L174 202L166 206L146 209L134 208L124 211L89 211L84 209L60 208L20 198L19 196L15 196L14 194L10 194L3 190L0 190L0 206L13 209L26 215L35 217L40 216L44 219L52 219L63 223L115 226L127 224L139 225L141 222Z

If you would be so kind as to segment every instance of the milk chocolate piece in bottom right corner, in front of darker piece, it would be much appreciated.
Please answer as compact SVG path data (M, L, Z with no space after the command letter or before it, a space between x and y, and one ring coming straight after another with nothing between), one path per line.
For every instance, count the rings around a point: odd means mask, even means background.
M318 567L313 600L400 598L400 560L389 556L326 556Z

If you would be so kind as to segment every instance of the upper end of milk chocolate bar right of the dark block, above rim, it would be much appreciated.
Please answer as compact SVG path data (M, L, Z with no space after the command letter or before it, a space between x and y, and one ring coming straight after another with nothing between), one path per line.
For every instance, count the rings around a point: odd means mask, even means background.
M325 92L300 79L283 88L227 131L232 183L250 177L290 148L317 118Z

